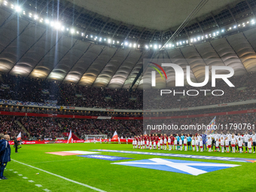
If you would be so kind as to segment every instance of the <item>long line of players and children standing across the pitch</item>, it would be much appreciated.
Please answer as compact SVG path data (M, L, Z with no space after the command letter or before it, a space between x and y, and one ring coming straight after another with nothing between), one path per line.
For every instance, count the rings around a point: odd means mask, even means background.
M141 135L135 136L133 139L133 148L140 148L140 149L159 149L159 150L167 150L167 146L170 150L180 150L184 148L184 151L213 151L213 147L215 146L215 151L221 151L222 153L227 152L239 152L243 153L244 146L245 146L245 153L251 153L252 146L256 147L256 134L253 133L252 135L245 135L238 134L237 136L233 133L230 134L227 132L226 135L223 133L212 134L207 136L206 134L202 133L190 136L189 134L178 136L178 134L166 136L166 134L161 134L160 137L157 134L152 135ZM192 148L191 148L192 147ZM207 148L208 150L207 150Z

